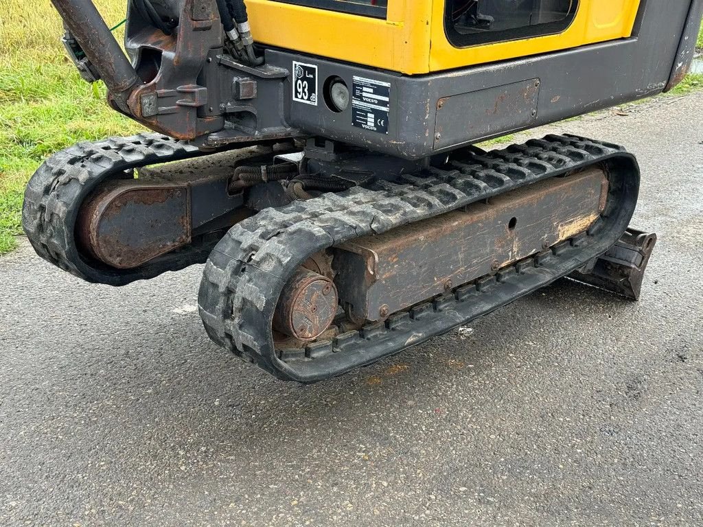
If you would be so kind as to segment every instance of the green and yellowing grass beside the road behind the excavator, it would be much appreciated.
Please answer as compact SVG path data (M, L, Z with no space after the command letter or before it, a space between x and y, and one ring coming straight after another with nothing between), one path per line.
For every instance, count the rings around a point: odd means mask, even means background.
M124 18L126 4L96 0L108 25ZM0 254L14 249L22 233L25 184L48 155L77 141L140 129L108 108L102 84L91 86L79 77L60 44L62 33L49 0L0 0ZM697 46L703 48L703 29ZM671 93L701 88L703 75L690 75Z

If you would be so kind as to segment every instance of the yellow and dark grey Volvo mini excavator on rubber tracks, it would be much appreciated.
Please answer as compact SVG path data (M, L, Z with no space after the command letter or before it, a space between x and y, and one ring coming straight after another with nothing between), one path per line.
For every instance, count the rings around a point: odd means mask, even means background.
M23 227L63 270L205 263L209 337L302 383L558 278L638 298L633 155L478 144L672 89L703 0L129 0L124 46L91 0L51 1L82 77L153 131L32 176Z

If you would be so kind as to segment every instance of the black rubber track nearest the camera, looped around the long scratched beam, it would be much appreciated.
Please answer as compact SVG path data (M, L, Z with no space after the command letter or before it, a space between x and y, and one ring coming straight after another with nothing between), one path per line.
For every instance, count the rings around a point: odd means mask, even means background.
M200 285L198 304L209 336L280 379L316 382L340 375L450 330L583 267L617 242L636 204L637 163L617 145L576 136L547 136L505 150L469 148L453 152L451 157L450 169L433 168L430 174L404 176L401 184L380 182L368 190L356 187L266 209L233 226L210 255ZM619 175L611 178L612 199L602 214L610 219L598 220L591 236L586 237L592 239L571 240L527 265L521 262L510 272L503 270L483 282L458 287L425 306L339 335L333 341L300 350L274 348L271 319L280 291L311 254L593 164L602 164ZM550 268L552 256L559 261ZM498 283L500 287L491 287ZM489 289L495 291L488 293Z

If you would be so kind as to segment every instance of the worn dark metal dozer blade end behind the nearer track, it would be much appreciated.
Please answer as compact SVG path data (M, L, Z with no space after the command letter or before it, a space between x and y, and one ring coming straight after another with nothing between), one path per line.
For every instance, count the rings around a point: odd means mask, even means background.
M620 294L631 300L640 298L642 280L657 235L628 228L620 240L605 254L591 262L593 268L576 271L569 278L606 291Z

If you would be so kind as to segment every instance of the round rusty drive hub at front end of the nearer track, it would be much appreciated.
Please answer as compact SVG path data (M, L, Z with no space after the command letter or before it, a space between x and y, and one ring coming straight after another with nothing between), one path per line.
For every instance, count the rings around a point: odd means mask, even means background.
M330 278L301 268L280 294L273 329L300 341L311 341L332 325L337 288Z

